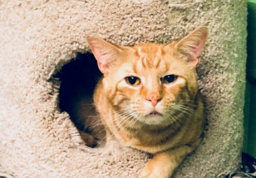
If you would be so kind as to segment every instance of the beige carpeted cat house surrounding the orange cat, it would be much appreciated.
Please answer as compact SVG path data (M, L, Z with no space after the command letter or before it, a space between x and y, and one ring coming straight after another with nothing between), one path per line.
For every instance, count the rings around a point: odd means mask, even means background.
M90 52L86 34L122 45L168 43L200 24L209 30L198 68L208 126L203 143L174 177L223 177L236 170L243 138L246 16L246 0L0 1L0 173L137 177L149 156L131 148L115 156L104 152L108 148L87 147L59 108L62 84L56 75L77 54Z

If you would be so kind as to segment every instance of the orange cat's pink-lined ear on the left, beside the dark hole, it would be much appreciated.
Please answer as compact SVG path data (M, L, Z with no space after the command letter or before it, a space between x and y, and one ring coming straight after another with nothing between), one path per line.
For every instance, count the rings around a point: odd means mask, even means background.
M86 40L97 60L100 71L102 73L109 72L110 66L114 64L122 49L94 35L87 35Z

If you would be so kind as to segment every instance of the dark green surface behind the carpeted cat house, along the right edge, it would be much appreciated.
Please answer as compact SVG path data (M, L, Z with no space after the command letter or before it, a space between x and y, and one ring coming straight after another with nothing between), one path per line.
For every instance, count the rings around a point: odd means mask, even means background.
M248 0L248 37L243 151L256 158L256 0Z

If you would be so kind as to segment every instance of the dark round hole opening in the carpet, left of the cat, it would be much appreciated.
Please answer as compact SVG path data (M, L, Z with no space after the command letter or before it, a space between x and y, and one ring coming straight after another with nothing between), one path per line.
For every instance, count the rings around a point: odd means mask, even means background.
M54 75L60 81L59 108L66 111L90 147L99 145L105 130L94 107L93 92L102 76L92 53L78 53Z

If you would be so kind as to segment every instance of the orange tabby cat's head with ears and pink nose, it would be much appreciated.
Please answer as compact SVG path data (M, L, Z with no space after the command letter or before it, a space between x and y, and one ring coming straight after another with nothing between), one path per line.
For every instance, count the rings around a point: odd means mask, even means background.
M200 26L170 44L119 46L88 35L87 41L104 74L106 96L121 114L159 125L175 120L176 111L197 93L196 66L200 62L207 28Z

